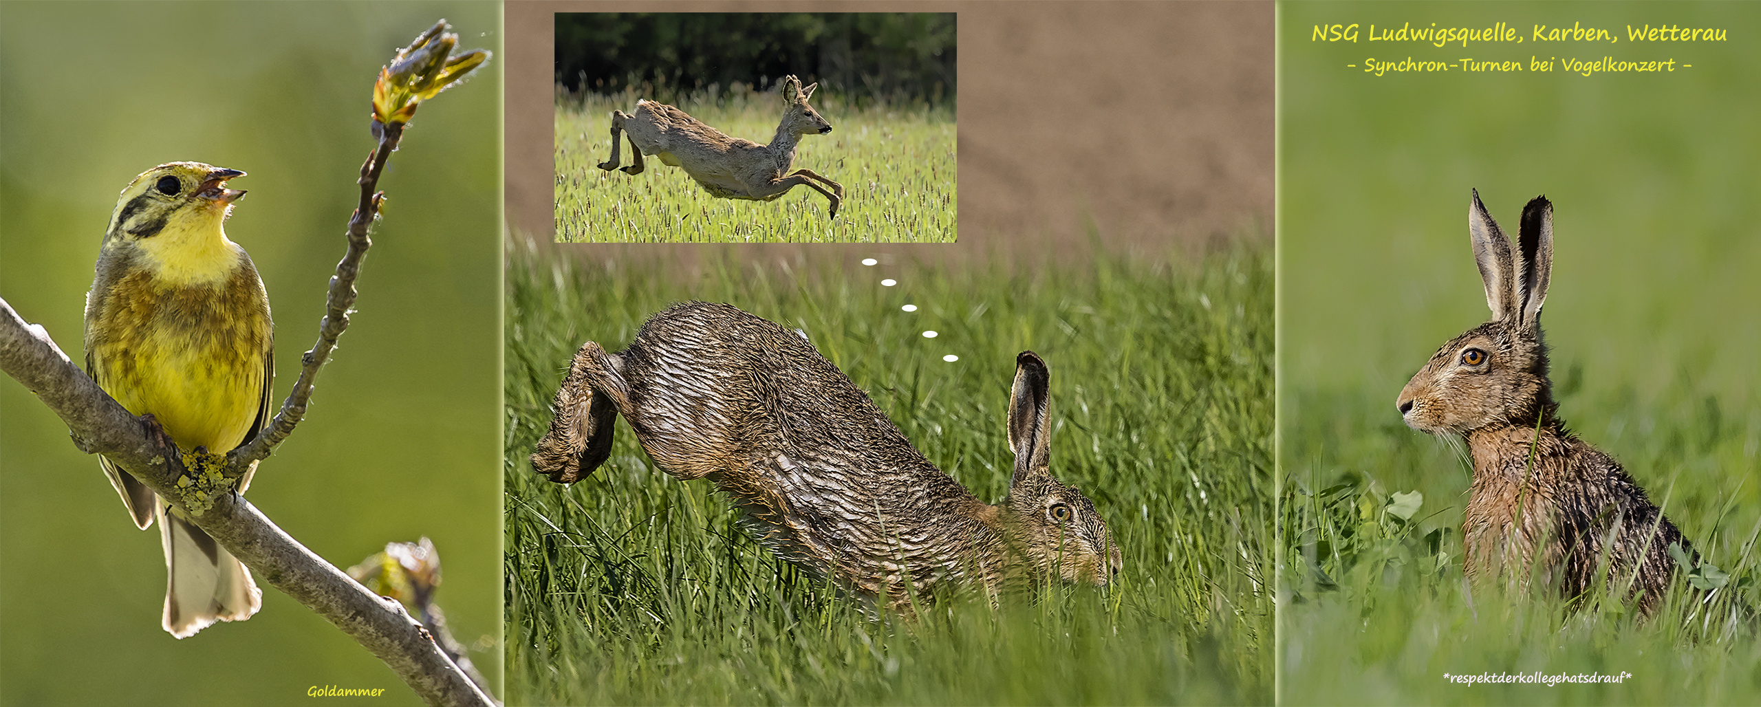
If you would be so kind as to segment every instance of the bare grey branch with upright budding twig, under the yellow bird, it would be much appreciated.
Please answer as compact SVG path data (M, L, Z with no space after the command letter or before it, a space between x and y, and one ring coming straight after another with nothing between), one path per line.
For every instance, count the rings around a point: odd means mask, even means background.
M231 480L243 475L254 461L268 457L305 417L317 371L349 325L349 310L356 299L354 281L361 273L366 248L372 246L368 227L384 202L384 193L375 192L379 176L416 106L456 84L490 58L481 49L451 56L458 35L444 33L446 26L442 19L398 51L391 67L380 70L373 95L373 135L379 146L361 165L361 204L349 220L349 250L336 264L336 276L331 278L319 341L301 359L299 380L294 382L282 412L247 445L227 452L222 470L197 470L197 475L190 475L183 456L151 417L130 415L67 359L48 331L26 324L5 299L0 299L0 371L37 394L67 424L81 452L106 456L160 498L185 508L197 528L211 535L257 577L336 624L391 667L423 700L433 705L493 705L495 702L447 658L435 637L412 619L402 603L373 594L231 491ZM389 111L382 111L382 106ZM227 484L195 484L204 489L199 492L178 485L180 478L208 477L215 471L225 477Z

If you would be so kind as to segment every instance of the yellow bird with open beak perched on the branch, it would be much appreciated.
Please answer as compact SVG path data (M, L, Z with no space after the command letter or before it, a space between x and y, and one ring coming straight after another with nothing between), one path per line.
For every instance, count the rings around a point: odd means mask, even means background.
M275 378L269 295L222 222L245 176L171 162L116 200L86 295L86 371L134 415L151 413L185 452L225 454L269 419ZM262 607L250 570L127 471L102 459L136 526L158 521L166 547L166 631L185 638ZM252 464L238 482L250 485Z

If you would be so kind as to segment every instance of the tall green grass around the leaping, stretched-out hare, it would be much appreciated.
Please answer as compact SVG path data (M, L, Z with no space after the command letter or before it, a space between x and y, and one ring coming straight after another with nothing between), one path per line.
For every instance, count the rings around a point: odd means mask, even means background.
M507 276L509 703L1271 700L1266 248L1025 271L863 267L836 251L701 274L541 253L514 246ZM988 501L1007 491L1014 354L1039 352L1053 471L1094 498L1124 572L1104 593L872 621L748 540L713 485L652 468L622 420L588 480L534 475L525 457L574 348L622 348L682 299L801 327Z

